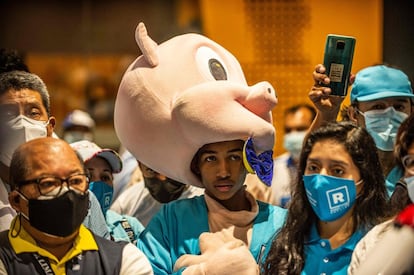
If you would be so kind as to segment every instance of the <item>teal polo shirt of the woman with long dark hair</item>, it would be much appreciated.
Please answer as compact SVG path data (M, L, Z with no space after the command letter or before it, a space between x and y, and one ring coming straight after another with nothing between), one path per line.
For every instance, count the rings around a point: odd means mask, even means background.
M305 241L305 266L301 274L347 274L352 252L366 232L356 231L342 246L331 249L329 240L319 236L316 225Z

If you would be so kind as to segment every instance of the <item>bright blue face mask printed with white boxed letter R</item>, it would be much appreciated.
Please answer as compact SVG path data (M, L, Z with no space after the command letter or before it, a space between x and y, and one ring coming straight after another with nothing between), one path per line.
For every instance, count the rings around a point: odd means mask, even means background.
M355 203L356 184L353 180L312 174L304 175L303 182L309 203L322 221L341 218Z

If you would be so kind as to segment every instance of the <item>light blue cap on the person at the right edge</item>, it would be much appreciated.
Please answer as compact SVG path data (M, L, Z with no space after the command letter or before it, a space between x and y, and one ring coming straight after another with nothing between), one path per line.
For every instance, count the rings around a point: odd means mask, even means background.
M351 102L385 97L414 97L410 80L405 73L378 65L365 68L356 74L351 90Z

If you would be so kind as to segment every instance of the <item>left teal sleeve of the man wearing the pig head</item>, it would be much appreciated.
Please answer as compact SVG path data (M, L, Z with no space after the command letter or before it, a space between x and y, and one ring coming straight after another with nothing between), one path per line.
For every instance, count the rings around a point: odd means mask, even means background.
M147 256L154 274L173 272L177 259L186 254L200 255L199 236L209 231L204 197L164 204L153 216L138 240L138 248Z

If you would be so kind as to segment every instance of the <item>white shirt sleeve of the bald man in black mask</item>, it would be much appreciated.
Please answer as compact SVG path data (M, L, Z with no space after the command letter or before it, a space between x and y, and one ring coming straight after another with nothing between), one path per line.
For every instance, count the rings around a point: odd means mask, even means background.
M120 275L151 275L154 274L147 257L132 244L127 244L122 251Z

